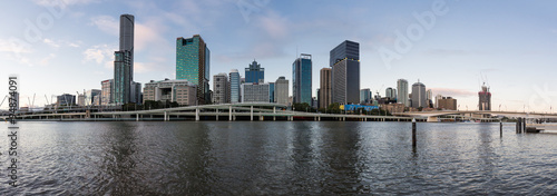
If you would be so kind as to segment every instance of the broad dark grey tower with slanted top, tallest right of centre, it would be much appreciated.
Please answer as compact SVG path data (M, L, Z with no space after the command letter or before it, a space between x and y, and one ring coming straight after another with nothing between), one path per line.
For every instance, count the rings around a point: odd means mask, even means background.
M331 50L332 102L360 102L360 43L344 41Z

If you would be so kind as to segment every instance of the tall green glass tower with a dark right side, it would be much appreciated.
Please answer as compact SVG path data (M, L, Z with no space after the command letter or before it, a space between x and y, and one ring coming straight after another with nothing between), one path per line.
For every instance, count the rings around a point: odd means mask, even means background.
M199 35L176 39L176 79L186 79L197 86L198 105L211 102L209 59L211 51Z

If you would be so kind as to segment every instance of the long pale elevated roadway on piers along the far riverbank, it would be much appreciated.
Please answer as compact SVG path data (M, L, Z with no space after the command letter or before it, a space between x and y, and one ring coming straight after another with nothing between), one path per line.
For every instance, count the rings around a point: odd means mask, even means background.
M285 110L286 106L271 102L254 104L223 104L186 106L176 108L133 110L133 111L95 111L95 110L71 110L71 111L42 111L42 112L18 112L17 119L22 120L358 120L358 121L411 121L416 117L404 116L368 116L350 114L316 114ZM7 116L0 117L7 119ZM418 117L417 120L426 121L426 117Z

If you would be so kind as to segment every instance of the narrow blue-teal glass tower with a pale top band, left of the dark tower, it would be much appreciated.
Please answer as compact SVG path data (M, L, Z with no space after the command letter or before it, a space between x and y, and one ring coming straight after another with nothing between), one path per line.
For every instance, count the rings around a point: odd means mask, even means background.
M292 63L292 99L312 105L312 56L301 53Z

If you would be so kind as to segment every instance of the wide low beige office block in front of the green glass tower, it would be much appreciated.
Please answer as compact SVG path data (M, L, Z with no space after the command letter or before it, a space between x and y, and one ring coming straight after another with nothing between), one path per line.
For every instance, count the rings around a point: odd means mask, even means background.
M145 84L143 101L169 101L180 106L196 106L197 86L188 80L160 80Z

